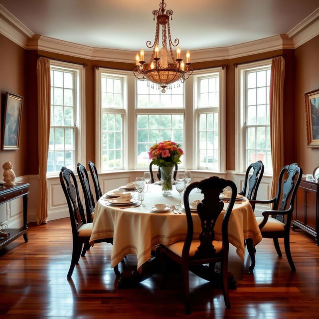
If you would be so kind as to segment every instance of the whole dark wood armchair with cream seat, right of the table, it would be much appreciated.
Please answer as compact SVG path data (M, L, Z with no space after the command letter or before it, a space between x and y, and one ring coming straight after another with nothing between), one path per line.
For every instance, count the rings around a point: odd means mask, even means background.
M302 175L303 170L297 163L286 165L280 172L275 197L270 200L250 201L252 204L273 204L271 210L264 211L262 213L263 217L256 217L256 219L263 238L273 239L279 257L282 257L282 252L278 238L284 239L286 256L293 271L296 270L296 267L290 251L290 227L295 196Z

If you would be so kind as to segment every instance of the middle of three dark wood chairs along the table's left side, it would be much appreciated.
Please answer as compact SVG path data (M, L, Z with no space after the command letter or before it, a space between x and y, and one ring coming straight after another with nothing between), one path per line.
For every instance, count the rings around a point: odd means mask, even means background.
M82 186L84 201L85 201L85 210L86 210L86 220L90 223L94 216L94 207L95 202L93 194L90 187L89 176L86 168L81 163L78 163L76 170L79 176L79 180Z

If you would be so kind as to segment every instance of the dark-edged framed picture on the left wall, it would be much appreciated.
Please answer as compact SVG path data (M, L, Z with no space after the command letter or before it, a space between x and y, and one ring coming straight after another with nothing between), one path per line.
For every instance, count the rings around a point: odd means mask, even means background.
M18 150L23 97L6 92L2 125L2 150Z

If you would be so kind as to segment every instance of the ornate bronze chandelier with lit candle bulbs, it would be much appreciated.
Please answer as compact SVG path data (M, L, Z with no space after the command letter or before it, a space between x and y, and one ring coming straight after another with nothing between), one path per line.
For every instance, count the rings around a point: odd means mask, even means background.
M193 69L190 67L190 53L186 52L186 62L180 58L179 40L176 38L172 42L170 37L169 17L172 19L172 10L166 10L166 3L161 0L160 8L153 11L153 16L157 17L155 40L152 45L151 41L147 41L146 45L153 48L152 57L149 63L144 61L144 49L140 54L136 54L136 63L134 75L141 81L148 80L155 83L158 88L162 88L161 92L165 93L165 88L171 88L171 83L180 80L182 83L192 74ZM159 47L161 26L161 44ZM167 43L168 42L168 43ZM169 52L167 49L169 46ZM172 46L176 47L176 59L174 58ZM154 86L153 86L154 87Z

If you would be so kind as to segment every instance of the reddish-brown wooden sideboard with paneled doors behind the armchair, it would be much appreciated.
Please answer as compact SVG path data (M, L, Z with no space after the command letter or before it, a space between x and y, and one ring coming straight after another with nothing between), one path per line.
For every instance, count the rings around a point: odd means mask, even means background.
M311 234L319 246L319 183L303 178L297 190L292 228Z

